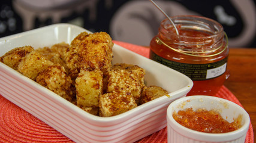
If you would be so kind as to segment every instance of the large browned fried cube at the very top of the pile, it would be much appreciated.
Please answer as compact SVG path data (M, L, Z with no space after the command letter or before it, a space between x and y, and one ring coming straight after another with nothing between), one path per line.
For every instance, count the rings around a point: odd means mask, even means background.
M81 68L100 69L103 73L112 67L112 39L106 32L80 33L65 52L65 61L73 77Z

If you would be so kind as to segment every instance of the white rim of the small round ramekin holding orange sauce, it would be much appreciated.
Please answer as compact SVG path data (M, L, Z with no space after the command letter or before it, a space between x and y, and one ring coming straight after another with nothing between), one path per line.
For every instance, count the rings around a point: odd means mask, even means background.
M243 118L245 122L243 123L243 126L237 130L234 130L233 132L227 132L227 133L204 133L204 132L198 132L196 130L188 129L179 123L176 122L176 120L173 119L173 111L177 105L182 104L182 102L188 101L188 100L198 100L198 99L210 99L215 101L223 101L227 102L227 104L231 107L237 108L237 110L240 111L240 114L243 115ZM185 109L185 108L184 108ZM193 138L193 139L200 139L201 141L232 141L234 139L240 138L241 136L245 135L248 132L249 129L249 123L250 118L249 114L240 107L240 105L237 105L236 103L232 101L225 100L223 98L219 97L210 97L207 95L193 95L189 97L183 97L179 98L176 101L171 102L171 104L167 108L167 120L170 121L171 127L174 130L182 130L182 135L186 136L187 138ZM177 131L180 132L180 131Z

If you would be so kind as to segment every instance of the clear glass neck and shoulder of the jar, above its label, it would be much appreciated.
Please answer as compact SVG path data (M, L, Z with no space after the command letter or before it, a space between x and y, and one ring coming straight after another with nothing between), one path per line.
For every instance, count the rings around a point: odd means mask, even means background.
M165 19L156 38L159 44L182 54L197 57L211 57L227 48L227 35L217 21L196 15L177 15L171 18L180 35L175 32L173 24Z

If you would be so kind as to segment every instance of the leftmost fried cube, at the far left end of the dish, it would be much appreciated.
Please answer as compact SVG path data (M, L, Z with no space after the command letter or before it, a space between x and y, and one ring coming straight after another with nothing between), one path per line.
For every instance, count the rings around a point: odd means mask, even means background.
M5 53L0 58L0 61L6 64L7 66L11 67L12 69L17 70L17 67L20 61L22 61L22 58L32 51L34 51L34 48L32 46L22 46L19 48L14 48Z

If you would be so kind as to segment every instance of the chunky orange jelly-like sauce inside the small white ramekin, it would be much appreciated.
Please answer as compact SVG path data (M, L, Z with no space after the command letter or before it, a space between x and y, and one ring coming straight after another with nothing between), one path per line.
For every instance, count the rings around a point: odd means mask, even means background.
M229 123L216 111L203 109L193 111L192 108L186 108L174 113L173 119L180 125L199 132L226 133L239 129L242 117L239 116L234 122Z

